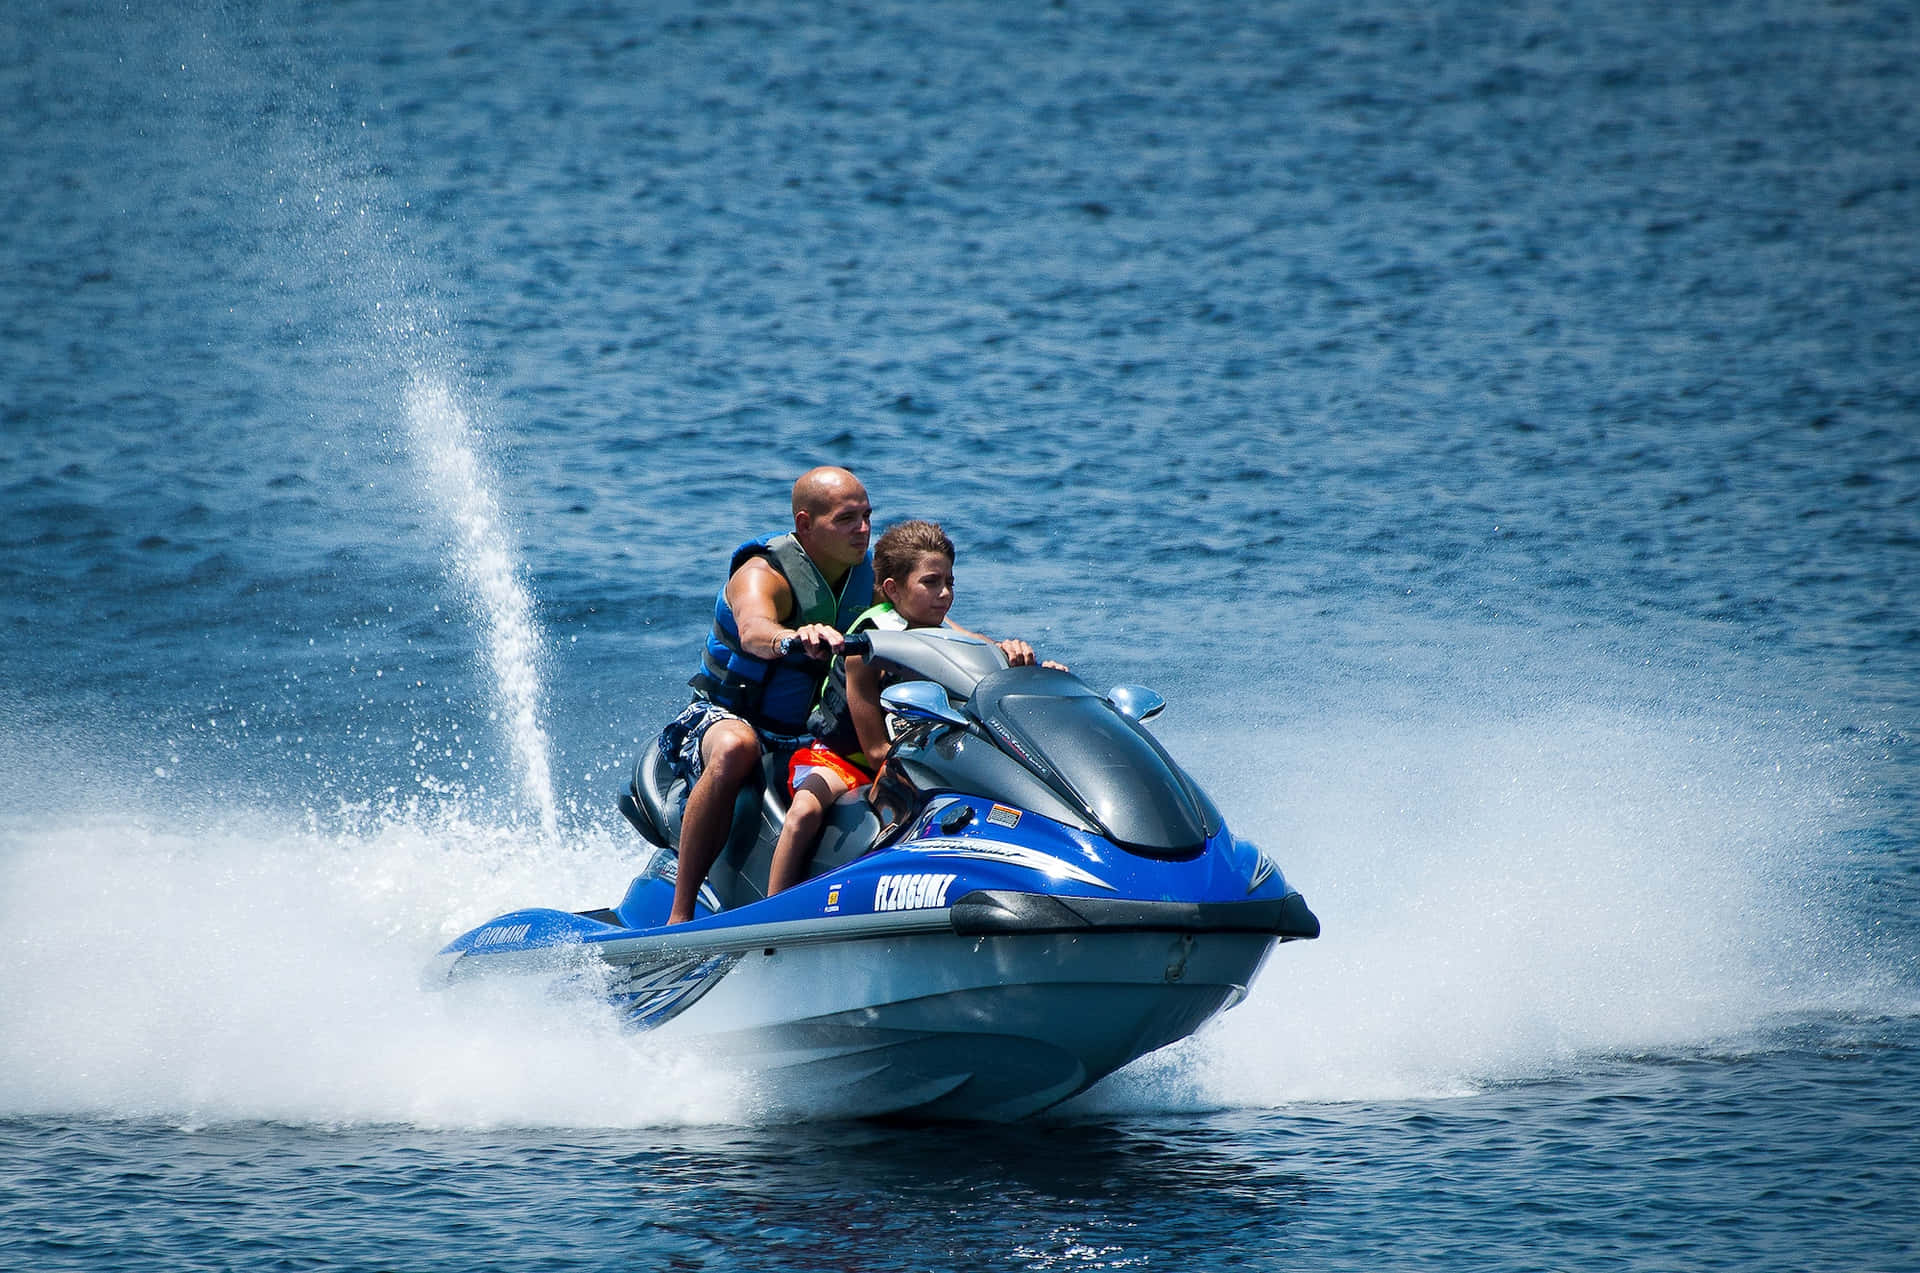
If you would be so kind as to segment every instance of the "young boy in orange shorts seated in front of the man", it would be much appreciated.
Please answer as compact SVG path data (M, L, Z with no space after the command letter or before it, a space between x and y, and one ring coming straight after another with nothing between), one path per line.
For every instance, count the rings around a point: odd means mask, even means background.
M847 626L849 636L870 628L899 632L941 626L979 636L947 622L947 611L954 603L954 545L935 522L889 526L874 545L874 580L877 605ZM1033 647L1025 641L996 641L996 645L1010 666L1035 661ZM866 659L833 661L820 707L808 720L818 741L793 753L787 770L793 803L780 829L780 843L774 847L768 897L801 883L806 860L820 841L820 824L828 808L849 791L870 783L879 762L887 758L893 739L887 737L879 691L879 672L868 666Z

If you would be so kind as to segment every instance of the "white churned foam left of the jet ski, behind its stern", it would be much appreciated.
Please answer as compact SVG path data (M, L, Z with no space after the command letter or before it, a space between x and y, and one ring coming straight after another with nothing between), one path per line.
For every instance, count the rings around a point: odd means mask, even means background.
M184 1125L618 1127L739 1117L701 1058L540 981L426 991L520 904L603 904L626 847L445 814L317 831L223 810L0 829L0 1114Z

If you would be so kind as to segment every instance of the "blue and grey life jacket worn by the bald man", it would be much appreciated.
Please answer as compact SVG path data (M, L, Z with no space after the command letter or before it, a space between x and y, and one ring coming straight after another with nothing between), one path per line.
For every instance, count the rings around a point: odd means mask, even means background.
M764 557L793 589L793 614L785 620L793 628L831 624L847 632L874 603L872 553L847 572L837 593L793 532L749 540L733 549L733 561L726 570L728 582L753 557ZM820 697L826 674L828 662L808 659L799 645L783 659L749 655L739 643L739 622L722 584L714 601L714 626L701 651L701 670L687 684L693 685L693 693L737 712L760 733L791 737L806 733L806 712Z

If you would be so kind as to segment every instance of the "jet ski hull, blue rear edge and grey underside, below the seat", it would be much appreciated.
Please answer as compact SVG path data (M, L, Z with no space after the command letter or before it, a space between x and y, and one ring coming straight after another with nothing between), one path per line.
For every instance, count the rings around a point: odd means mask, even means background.
M883 895L860 885L885 868L841 891ZM670 891L643 877L624 906ZM1194 1033L1246 997L1277 941L1317 933L1298 893L1192 906L989 887L948 906L795 914L828 897L831 883L808 883L783 906L793 918L749 922L774 910L762 902L672 929L518 912L449 947L440 977L586 968L630 1027L751 1075L781 1116L1006 1121Z

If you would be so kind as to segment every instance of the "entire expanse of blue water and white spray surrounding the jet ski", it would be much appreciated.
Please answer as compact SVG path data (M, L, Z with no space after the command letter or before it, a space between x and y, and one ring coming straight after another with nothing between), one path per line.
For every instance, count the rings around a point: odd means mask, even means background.
M0 1263L1920 1267L1901 4L15 6ZM847 463L1327 933L1014 1129L584 1004Z

